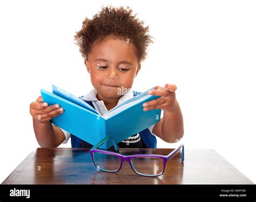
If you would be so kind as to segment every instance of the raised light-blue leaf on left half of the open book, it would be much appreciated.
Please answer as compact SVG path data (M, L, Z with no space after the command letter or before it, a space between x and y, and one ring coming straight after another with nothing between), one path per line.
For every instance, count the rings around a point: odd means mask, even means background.
M72 95L72 94L66 92L63 89L58 88L57 86L52 85L52 93L66 99L66 100L69 100L70 102L73 102L81 107L84 107L85 109L88 109L93 113L99 114L92 106L88 105L84 100L80 99L79 97L77 97L75 95Z

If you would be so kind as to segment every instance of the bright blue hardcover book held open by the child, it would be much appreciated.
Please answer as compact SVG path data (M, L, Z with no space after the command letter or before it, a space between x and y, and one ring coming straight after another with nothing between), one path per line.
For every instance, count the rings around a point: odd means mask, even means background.
M57 103L64 109L64 113L54 117L51 122L92 145L105 136L111 136L116 143L121 142L160 121L160 109L143 111L143 103L159 97L148 95L147 90L114 107L103 116L80 97L54 85L52 93L41 89L41 94L48 105ZM112 146L113 143L109 141L100 148L107 149Z

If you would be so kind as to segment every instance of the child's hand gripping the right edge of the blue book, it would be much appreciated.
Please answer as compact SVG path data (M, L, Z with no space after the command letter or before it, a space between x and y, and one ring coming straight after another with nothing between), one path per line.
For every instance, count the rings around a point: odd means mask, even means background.
M145 102L143 104L143 110L161 109L164 112L172 112L177 103L175 96L176 89L177 86L174 84L165 84L164 87L157 86L154 90L149 90L147 94L161 97Z

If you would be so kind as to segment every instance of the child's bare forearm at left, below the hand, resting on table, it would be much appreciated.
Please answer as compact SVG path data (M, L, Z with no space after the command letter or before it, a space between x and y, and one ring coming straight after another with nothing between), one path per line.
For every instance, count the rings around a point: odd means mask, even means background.
M41 123L33 119L33 129L40 147L58 147L65 140L63 131L51 122Z

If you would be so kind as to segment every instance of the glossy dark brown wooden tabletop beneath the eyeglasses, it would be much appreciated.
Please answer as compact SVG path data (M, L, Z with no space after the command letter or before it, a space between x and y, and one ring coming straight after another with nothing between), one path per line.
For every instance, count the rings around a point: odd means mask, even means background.
M119 149L121 154L167 155L173 149ZM38 148L2 184L253 184L214 150L185 148L159 177L143 177L124 162L117 173L97 171L88 149Z

